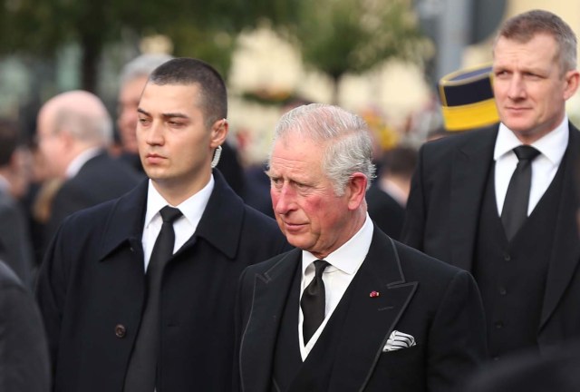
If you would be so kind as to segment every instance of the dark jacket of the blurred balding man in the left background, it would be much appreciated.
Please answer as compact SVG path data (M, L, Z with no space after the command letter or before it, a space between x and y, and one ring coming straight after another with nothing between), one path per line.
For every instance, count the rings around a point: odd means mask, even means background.
M64 181L54 195L45 244L52 240L64 218L75 211L116 199L144 178L142 173L106 152L92 157L73 178Z

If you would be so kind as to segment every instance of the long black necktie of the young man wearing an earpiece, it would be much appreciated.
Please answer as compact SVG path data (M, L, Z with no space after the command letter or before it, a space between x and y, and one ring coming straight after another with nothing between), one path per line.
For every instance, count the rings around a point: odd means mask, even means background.
M173 255L175 231L173 222L181 211L163 207L160 211L163 225L151 251L147 267L147 302L133 353L125 377L125 392L153 392L156 387L157 357L160 344L160 291L165 263Z

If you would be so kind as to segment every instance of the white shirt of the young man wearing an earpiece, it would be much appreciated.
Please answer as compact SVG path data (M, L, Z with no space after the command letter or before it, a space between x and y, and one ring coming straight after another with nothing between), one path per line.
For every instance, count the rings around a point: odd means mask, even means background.
M206 210L208 205L209 196L211 191L214 190L214 177L213 175L209 178L208 184L198 191L198 193L189 197L186 201L183 201L178 206L171 206L179 208L179 211L183 216L179 217L173 223L173 229L175 231L175 245L173 247L173 253L175 253L183 244L189 240L189 238L198 229L199 220L201 220L201 215L203 211ZM143 237L141 239L143 243L143 253L145 270L149 265L149 260L151 258L151 252L153 251L153 246L155 245L155 240L160 234L161 225L163 220L161 220L160 210L170 205L163 197L160 195L153 183L149 181L149 190L147 191L147 212L145 214L145 227L143 228Z

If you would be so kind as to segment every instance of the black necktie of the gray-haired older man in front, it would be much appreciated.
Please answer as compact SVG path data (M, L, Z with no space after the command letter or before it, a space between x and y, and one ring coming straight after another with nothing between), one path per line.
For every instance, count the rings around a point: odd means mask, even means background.
M326 306L326 294L324 291L323 272L328 267L328 262L324 260L314 261L314 279L310 282L300 300L304 322L302 324L302 334L304 345L312 338L316 329L320 327L324 320L324 308Z

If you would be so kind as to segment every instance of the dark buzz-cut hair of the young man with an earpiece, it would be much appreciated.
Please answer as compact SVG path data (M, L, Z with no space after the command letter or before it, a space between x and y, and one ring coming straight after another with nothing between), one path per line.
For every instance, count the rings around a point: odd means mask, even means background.
M198 84L199 107L204 113L206 127L227 118L227 89L221 75L211 65L201 60L181 57L169 60L157 67L149 77L149 83L157 85Z

